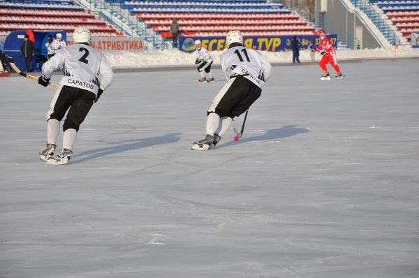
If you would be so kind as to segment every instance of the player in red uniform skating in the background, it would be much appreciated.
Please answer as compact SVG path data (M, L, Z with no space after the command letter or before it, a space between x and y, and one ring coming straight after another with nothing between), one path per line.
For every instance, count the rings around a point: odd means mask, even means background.
M335 68L335 71L337 72L336 78L344 78L340 72L339 66L337 65L336 48L332 45L332 41L330 41L330 38L326 37L326 32L324 30L321 30L318 34L321 38L321 41L320 45L317 47L317 52L320 52L320 54L323 55L319 65L325 72L325 74L321 77L321 80L330 80L328 68L326 68L326 64L328 64L328 62L330 62L333 68Z

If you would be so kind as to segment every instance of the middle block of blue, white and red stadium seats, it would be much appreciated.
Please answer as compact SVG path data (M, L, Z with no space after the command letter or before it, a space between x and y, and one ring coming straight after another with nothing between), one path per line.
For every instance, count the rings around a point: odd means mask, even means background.
M226 36L239 29L245 36L312 35L315 28L281 3L262 0L122 1L163 38L171 38L170 24L177 19L180 35Z

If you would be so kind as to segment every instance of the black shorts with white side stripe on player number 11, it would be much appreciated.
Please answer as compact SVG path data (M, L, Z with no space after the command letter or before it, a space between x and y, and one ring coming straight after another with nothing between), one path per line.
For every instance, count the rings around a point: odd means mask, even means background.
M216 95L207 115L215 112L220 117L238 117L260 97L262 89L239 75L231 78Z

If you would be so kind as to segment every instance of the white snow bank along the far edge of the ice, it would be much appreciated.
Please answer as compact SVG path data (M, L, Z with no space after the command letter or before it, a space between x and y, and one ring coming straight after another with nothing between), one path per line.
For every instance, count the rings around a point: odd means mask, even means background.
M220 64L220 55L222 52L211 52L214 58L214 64ZM292 52L262 52L271 63L290 63L292 61ZM179 50L163 50L161 52L120 52L106 53L113 68L147 68L158 66L179 66L195 65L196 54L186 53ZM398 47L397 58L419 57L419 49L411 47ZM376 48L373 50L339 50L337 52L338 60L350 59L393 59L395 58L395 47ZM316 61L320 61L320 54L316 54ZM309 50L300 51L300 60L302 62L311 61Z

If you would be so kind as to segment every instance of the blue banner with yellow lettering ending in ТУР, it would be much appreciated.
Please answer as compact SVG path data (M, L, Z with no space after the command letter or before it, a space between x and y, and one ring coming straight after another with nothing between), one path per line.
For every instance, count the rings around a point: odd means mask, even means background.
M253 36L244 37L244 46L253 48L260 51L271 51L271 52L285 52L293 51L291 49L291 41L294 36ZM298 36L301 45L300 49L307 48L309 40L313 40L316 45L320 44L320 37L316 35L312 36ZM332 41L336 47L337 35L328 35L328 38ZM207 48L208 51L222 51L228 48L226 43L226 37L180 37L179 38L179 49L184 52L195 51L194 41L202 41L203 47Z

